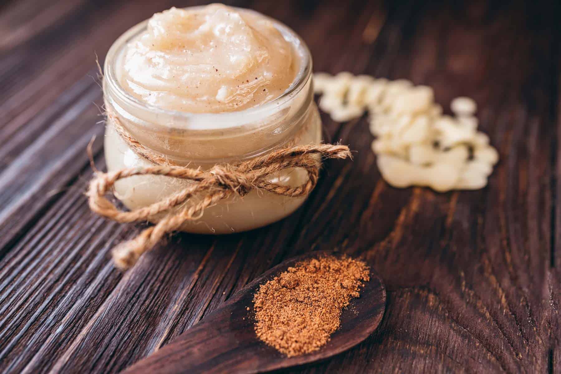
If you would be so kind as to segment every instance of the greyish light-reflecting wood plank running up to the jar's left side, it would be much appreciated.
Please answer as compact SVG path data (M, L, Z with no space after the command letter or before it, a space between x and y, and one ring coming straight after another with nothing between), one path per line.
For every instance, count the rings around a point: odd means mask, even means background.
M99 109L92 104L99 97L97 87L85 91L72 110L50 118L54 123L48 130L0 173L0 257L62 191L72 188L71 182L88 165L84 149L92 137L97 136L95 150L100 150L103 125L96 123Z

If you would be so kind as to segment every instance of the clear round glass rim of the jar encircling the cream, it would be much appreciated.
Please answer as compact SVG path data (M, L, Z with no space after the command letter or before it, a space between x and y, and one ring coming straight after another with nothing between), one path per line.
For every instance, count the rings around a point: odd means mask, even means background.
M195 7L187 7L185 9L196 9L201 8L204 6L195 6ZM132 26L130 29L125 31L117 40L113 42L107 55L105 56L104 61L104 84L109 86L109 90L113 91L114 93L119 95L119 100L124 101L127 105L130 105L132 108L136 110L149 110L154 114L164 114L166 116L174 117L178 120L185 120L189 121L190 119L204 119L205 121L217 121L220 122L220 118L228 118L229 120L232 117L240 116L243 118L248 115L259 115L260 113L270 112L271 110L275 110L280 105L287 103L287 101L291 100L295 97L303 87L306 86L306 83L310 80L311 71L312 71L312 58L310 50L308 49L305 41L298 35L294 30L290 27L284 25L282 22L277 21L271 17L265 16L259 12L254 10L246 9L246 8L239 8L239 7L232 7L237 10L242 10L246 12L254 12L260 16L265 17L273 22L275 27L282 33L284 38L289 37L289 42L293 44L293 47L296 49L297 52L301 55L301 67L298 71L293 84L278 98L269 101L268 103L257 105L256 107L247 108L243 110L236 110L234 112L222 112L222 113L191 113L191 112L182 112L180 110L171 110L171 109L164 109L157 107L155 105L148 104L144 101L137 99L135 96L129 94L121 84L119 83L116 77L116 71L114 70L114 62L118 61L118 55L122 52L122 49L126 47L126 44L131 39L135 38L137 35L142 33L146 29L146 25L148 24L149 20L144 20L135 26ZM162 125L162 124L160 124ZM163 125L165 126L165 125ZM224 128L228 128L232 126L225 126ZM240 127L243 127L240 126ZM194 130L194 129L191 129Z

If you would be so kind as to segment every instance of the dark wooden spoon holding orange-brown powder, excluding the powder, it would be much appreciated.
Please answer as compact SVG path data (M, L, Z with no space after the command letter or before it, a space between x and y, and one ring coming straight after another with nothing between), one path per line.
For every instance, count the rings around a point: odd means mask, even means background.
M252 299L259 285L298 261L321 255L341 253L310 252L280 263L125 373L257 373L323 360L360 343L378 327L385 308L384 284L371 264L370 281L360 298L351 300L343 310L339 329L316 352L288 358L255 335Z

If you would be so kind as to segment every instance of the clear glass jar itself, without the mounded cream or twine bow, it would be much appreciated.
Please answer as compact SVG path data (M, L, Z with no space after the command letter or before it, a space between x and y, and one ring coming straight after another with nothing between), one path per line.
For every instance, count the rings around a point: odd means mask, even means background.
M118 135L111 117L141 145L174 164L210 169L215 164L237 164L266 154L283 145L318 144L321 121L313 99L312 61L304 41L287 26L274 21L300 57L300 70L279 98L257 107L227 113L194 114L149 105L123 90L118 69L128 41L144 33L148 21L132 27L112 45L105 58L103 93L109 116L105 128L105 159L109 172L153 164L133 151ZM319 160L318 160L319 162ZM271 182L296 187L305 183L300 169L282 170ZM188 181L163 176L135 176L115 184L114 193L129 209L148 206L188 186ZM191 233L226 234L258 228L295 211L306 197L287 197L253 190L208 207L197 220L187 221L181 230ZM193 197L185 209L199 197ZM151 221L158 221L154 216Z

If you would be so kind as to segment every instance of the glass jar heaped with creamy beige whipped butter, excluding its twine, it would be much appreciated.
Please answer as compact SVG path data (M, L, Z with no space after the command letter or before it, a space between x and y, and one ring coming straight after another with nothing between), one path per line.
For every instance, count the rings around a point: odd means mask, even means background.
M279 146L321 141L309 50L287 26L254 11L211 4L157 13L115 41L104 74L109 172L153 165L117 133L116 121L159 158L190 168L237 164ZM306 180L300 169L270 177L291 187ZM118 181L114 192L128 208L137 209L188 183L135 176ZM185 209L198 198L174 209ZM286 217L305 198L253 190L219 201L181 229L250 230Z

